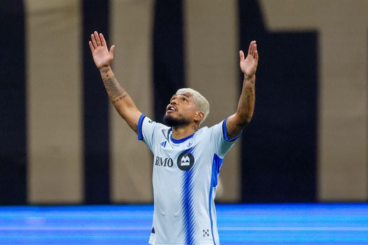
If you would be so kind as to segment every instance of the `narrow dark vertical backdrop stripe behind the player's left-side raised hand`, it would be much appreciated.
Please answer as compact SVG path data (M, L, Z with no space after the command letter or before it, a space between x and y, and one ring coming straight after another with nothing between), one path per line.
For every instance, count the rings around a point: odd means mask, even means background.
M108 33L108 0L83 0L84 198L86 204L110 202L108 97L88 41L95 30ZM96 10L98 8L98 11Z

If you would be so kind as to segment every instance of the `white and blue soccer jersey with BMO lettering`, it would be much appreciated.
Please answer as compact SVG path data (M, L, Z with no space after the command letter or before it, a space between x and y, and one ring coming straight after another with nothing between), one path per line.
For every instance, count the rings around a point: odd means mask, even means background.
M226 119L176 140L172 128L142 115L138 139L153 158L150 244L219 244L215 195L222 159L232 148Z

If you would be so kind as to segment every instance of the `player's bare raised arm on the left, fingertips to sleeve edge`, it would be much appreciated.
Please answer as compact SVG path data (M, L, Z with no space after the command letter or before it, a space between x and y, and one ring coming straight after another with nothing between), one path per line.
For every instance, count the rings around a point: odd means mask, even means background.
M110 97L110 101L129 127L135 133L138 133L138 120L142 113L136 108L129 94L120 86L110 67L115 46L112 45L110 51L108 51L104 36L102 33L98 34L95 31L94 34L91 34L89 47L95 64L100 70L101 78Z

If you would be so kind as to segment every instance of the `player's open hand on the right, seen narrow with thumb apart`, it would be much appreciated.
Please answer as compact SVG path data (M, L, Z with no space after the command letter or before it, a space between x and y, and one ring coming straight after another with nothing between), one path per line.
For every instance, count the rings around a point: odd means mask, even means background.
M258 51L256 41L251 41L249 44L248 55L245 58L244 52L239 51L240 56L240 69L244 73L245 77L253 77L257 70L258 65Z

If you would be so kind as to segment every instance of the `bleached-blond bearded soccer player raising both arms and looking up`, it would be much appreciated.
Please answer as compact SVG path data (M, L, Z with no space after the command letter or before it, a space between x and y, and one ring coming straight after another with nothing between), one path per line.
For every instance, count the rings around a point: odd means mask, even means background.
M250 121L255 105L256 41L247 57L239 52L244 73L238 109L211 128L199 128L209 114L208 101L190 88L179 89L159 124L142 114L118 83L110 64L114 45L91 34L89 47L108 96L129 127L152 151L154 212L150 244L219 244L215 195L225 154Z

